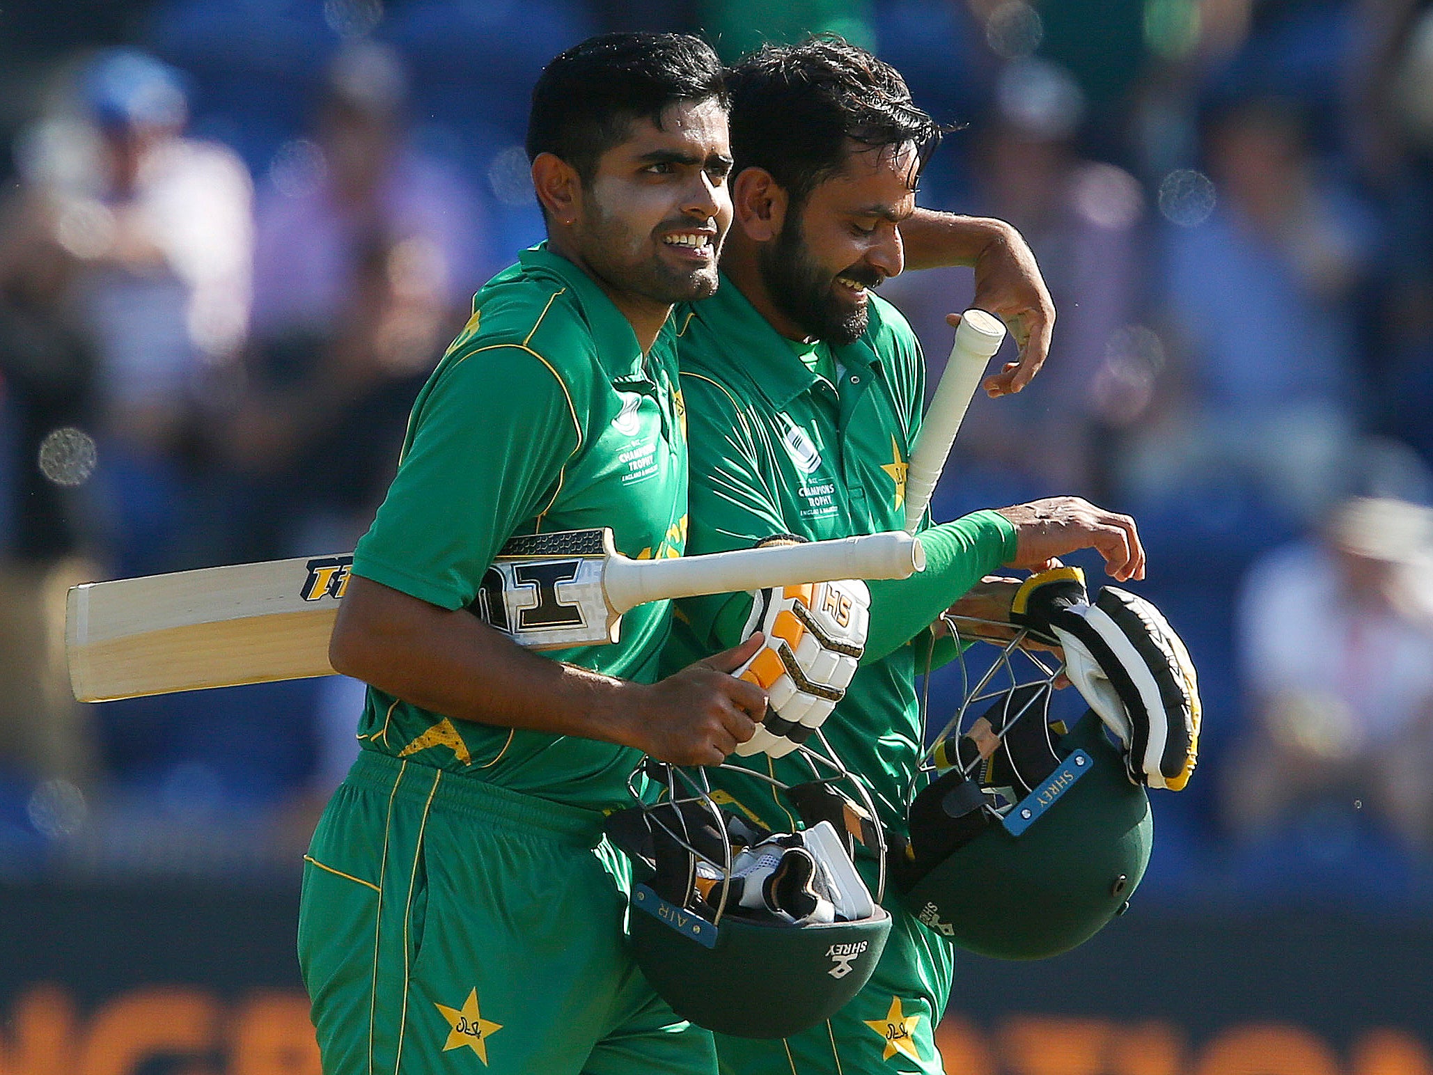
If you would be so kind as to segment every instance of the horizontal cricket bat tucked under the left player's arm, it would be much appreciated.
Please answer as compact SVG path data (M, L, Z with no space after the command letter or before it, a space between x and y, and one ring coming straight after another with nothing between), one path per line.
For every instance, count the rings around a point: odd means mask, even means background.
M64 644L82 702L332 675L328 636L353 556L202 568L70 588ZM610 529L513 538L471 612L519 645L616 642L622 613L649 601L831 579L903 579L924 569L900 530L711 556L633 560Z

